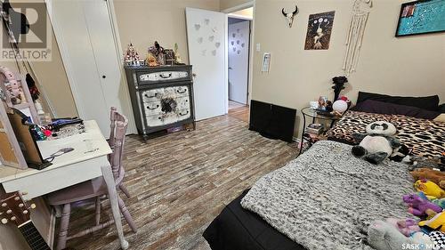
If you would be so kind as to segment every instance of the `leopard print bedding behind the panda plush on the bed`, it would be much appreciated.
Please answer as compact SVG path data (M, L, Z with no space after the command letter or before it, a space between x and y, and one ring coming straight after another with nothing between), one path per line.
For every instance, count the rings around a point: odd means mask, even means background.
M332 141L358 144L352 137L353 133L366 133L366 125L386 121L397 128L396 137L413 154L427 159L437 159L445 152L445 123L432 120L405 117L399 115L381 115L357 111L347 111L331 128L327 136Z

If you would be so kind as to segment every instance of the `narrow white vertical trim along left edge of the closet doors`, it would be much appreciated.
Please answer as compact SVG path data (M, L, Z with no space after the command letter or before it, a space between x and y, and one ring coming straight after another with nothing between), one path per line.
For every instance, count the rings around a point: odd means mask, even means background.
M73 99L76 104L77 114L79 117L85 117L84 108L81 105L82 101L79 97L77 90L76 77L74 77L74 73L72 71L70 63L71 60L69 59L69 53L67 51L67 47L65 46L63 37L60 36L61 32L59 24L57 23L57 21L55 21L55 18L53 17L54 16L53 1L54 0L44 0L44 3L46 4L46 10L48 11L48 16L50 17L51 23L53 25L54 36L56 38L57 44L59 45L59 50L61 51L61 60L63 62L63 66L65 67L65 71L67 73L69 87L71 88L71 93L73 94Z

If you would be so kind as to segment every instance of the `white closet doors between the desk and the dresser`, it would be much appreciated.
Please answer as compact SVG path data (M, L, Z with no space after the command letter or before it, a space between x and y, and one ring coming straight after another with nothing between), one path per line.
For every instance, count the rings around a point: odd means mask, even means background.
M54 34L79 116L95 120L109 135L109 108L116 107L130 119L134 132L126 85L117 55L106 1L48 1Z

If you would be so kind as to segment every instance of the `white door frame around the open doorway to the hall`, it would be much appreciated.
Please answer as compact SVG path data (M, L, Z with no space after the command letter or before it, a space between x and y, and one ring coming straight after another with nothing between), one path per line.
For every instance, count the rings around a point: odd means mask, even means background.
M236 6L233 6L231 8L222 10L221 12L226 13L226 23L229 23L229 13L231 12L238 12L240 10L244 10L250 7L254 7L254 18L251 20L251 25L250 25L250 41L249 41L249 66L248 66L248 79L247 79L247 106L250 106L250 101L252 100L252 77L253 77L253 69L254 69L254 36L255 36L255 5L256 5L256 0L253 1L249 1L247 3L244 4L239 4ZM239 17L235 17L235 18L239 18ZM241 18L239 18L241 19ZM229 28L227 27L226 30L229 30ZM228 33L228 32L226 32ZM226 34L227 38L226 38L226 47L229 44L229 36L228 34ZM226 48L227 51L227 48ZM228 67L228 63L229 63L229 53L226 52L226 63L227 63L227 67ZM226 68L227 68L226 67ZM227 79L229 79L229 70L227 69ZM228 82L229 83L229 82ZM227 84L227 100L229 100L229 84ZM228 106L227 106L227 110L229 110L229 102L227 102Z

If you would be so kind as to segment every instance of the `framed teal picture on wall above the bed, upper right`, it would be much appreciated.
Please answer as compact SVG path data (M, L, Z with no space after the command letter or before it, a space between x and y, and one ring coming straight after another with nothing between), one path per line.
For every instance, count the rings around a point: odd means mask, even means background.
M401 4L395 36L445 31L445 0L422 0Z

